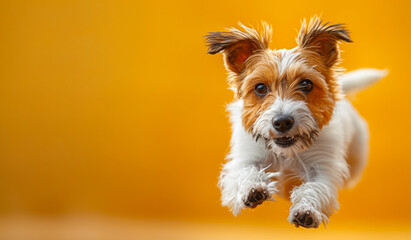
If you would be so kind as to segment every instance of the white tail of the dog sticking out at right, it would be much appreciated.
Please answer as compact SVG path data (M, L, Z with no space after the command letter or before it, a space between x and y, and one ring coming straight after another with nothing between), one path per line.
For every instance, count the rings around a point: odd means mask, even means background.
M340 82L345 94L353 94L378 82L387 74L388 70L362 68L345 73L341 76Z

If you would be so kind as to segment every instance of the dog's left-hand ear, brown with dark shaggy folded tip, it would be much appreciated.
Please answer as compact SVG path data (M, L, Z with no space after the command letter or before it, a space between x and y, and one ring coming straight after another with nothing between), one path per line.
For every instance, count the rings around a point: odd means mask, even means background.
M242 30L230 28L228 32L211 32L206 35L209 54L223 52L227 70L240 74L245 61L256 50L267 49L271 40L271 27L263 22L262 30L248 28L241 23Z

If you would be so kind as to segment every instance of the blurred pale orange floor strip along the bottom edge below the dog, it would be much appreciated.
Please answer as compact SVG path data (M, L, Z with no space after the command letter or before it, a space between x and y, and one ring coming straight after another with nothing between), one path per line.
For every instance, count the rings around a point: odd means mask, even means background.
M409 224L353 224L296 229L289 225L264 226L201 221L121 219L96 216L3 216L1 240L251 240L251 239L411 239Z

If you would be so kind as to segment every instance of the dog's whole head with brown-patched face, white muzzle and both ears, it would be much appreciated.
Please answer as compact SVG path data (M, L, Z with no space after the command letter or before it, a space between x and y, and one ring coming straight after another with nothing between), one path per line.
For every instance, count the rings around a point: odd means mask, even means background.
M207 35L208 52L224 54L231 88L244 103L244 128L278 154L300 152L330 121L340 97L338 42L351 42L348 32L314 17L303 22L297 47L270 50L270 27L242 27Z

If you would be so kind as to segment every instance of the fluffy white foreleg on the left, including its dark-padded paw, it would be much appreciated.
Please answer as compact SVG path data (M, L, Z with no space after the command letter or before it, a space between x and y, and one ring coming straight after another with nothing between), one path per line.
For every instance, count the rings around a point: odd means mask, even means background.
M245 164L233 159L227 162L220 174L221 201L234 215L243 208L254 208L265 200L272 200L277 192L277 173L266 173L258 164Z

